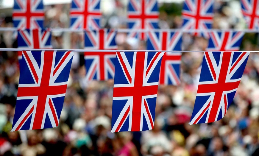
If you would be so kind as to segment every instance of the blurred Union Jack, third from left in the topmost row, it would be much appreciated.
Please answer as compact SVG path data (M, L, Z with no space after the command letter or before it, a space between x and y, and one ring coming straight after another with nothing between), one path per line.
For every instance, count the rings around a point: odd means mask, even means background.
M129 0L128 27L129 29L157 29L158 28L157 0ZM144 32L129 32L129 37L146 39Z

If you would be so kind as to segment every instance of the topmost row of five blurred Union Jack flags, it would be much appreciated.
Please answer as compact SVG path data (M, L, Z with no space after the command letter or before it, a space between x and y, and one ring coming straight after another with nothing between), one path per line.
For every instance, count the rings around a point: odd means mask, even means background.
M259 29L259 0L240 0L249 29ZM182 8L182 29L211 29L214 0L185 0ZM74 29L101 29L100 0L72 0L70 27ZM130 29L158 28L157 0L129 0L127 24ZM18 29L44 28L43 0L15 0L13 24ZM146 34L130 32L130 37L146 39ZM209 38L207 32L194 33Z

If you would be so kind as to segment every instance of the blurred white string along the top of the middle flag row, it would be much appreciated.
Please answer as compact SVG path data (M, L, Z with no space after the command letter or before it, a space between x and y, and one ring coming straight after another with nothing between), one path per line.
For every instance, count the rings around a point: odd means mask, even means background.
M72 28L46 28L50 31L58 31L58 32L83 32L85 29L72 29ZM15 27L0 27L0 32L6 31L17 31L19 29ZM24 30L24 29L22 29ZM171 32L250 32L250 33L258 33L259 30L256 29L113 29L117 32L163 32L163 31L171 31ZM91 31L91 30L90 30Z

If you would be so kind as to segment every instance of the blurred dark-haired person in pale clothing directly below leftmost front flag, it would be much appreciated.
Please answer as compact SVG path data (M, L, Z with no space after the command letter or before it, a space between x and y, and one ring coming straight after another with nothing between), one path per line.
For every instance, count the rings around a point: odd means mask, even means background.
M28 143L20 145L22 156L39 156L46 152L46 148L39 142L38 134L35 130L30 130L27 133Z

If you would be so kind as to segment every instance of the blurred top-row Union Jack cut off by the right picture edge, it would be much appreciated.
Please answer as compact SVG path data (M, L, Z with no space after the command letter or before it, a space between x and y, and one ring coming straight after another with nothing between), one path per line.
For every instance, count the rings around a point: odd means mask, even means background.
M240 0L248 29L259 29L259 0Z

